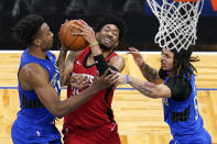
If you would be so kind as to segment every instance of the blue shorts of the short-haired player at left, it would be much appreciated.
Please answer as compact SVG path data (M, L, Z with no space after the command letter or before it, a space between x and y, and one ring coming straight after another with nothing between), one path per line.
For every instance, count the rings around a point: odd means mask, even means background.
M11 129L11 137L14 144L62 144L61 133L54 123L35 125L17 119Z

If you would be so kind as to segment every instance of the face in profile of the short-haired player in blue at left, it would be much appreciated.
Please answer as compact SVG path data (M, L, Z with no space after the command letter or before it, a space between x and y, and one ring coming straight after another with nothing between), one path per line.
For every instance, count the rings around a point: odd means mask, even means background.
M46 51L53 46L53 36L54 34L51 32L50 26L46 23L43 23L41 26L41 44L40 46Z

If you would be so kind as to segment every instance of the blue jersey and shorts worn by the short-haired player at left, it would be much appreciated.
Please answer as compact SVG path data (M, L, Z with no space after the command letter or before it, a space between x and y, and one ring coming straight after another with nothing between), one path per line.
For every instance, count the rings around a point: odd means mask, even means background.
M29 55L29 49L25 49L21 57L19 71L22 66L29 63L39 64L47 70L50 82L59 95L59 70L55 66L55 55L47 52L46 59L40 59ZM61 142L61 134L54 124L55 117L41 103L35 91L24 90L21 87L20 81L18 89L21 110L18 112L18 118L14 121L11 131L13 142L46 143L56 140ZM19 140L22 140L22 142Z

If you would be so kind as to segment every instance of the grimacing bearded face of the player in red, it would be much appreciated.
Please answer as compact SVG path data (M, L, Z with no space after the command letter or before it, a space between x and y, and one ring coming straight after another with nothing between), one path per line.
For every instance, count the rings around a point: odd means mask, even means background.
M102 45L105 51L112 49L118 46L119 43L119 30L115 24L106 24L101 30L96 34L97 41Z

